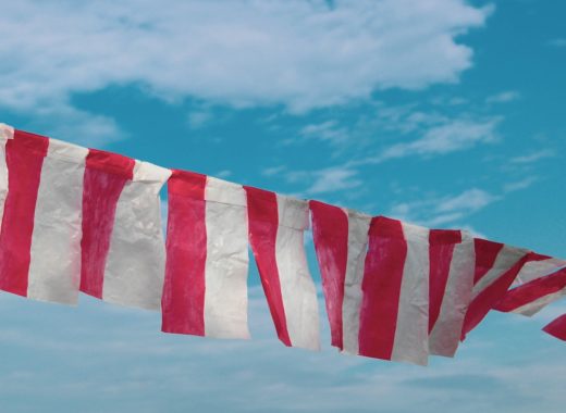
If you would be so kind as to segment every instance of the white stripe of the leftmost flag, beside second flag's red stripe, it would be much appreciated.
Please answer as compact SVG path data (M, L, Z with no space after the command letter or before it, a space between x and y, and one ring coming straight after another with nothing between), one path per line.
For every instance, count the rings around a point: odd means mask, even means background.
M28 298L76 304L87 154L86 148L49 139L34 216Z

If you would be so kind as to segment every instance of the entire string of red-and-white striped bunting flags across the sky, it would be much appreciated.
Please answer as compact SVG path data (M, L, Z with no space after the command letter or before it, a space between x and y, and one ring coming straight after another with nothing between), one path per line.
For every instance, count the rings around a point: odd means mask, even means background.
M160 190L167 183L162 234ZM332 346L427 364L495 309L566 296L566 261L229 183L0 125L0 289L158 310L162 330L249 338L248 249L279 339L320 348L312 224ZM544 330L566 339L566 316Z

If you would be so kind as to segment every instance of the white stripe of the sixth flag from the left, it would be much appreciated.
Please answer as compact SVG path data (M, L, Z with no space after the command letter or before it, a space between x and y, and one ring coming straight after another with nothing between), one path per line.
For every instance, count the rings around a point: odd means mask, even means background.
M429 354L429 230L403 223L407 259L391 360L426 365Z

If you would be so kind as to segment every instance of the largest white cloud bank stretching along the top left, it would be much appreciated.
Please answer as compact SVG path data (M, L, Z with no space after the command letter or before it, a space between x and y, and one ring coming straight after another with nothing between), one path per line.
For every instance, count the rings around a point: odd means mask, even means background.
M37 116L50 108L46 122L60 121L75 92L137 84L170 102L306 111L452 83L472 58L457 36L492 9L463 0L5 2L0 107Z

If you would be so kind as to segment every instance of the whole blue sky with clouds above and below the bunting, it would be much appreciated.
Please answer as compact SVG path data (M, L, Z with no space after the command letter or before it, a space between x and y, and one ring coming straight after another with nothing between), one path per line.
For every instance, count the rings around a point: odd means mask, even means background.
M561 1L10 2L0 120L169 167L566 258ZM313 277L319 275L308 243ZM253 265L251 265L253 267ZM322 305L322 302L321 302ZM0 296L2 411L558 412L564 345L491 314L427 368L160 334ZM561 409L562 408L562 409Z

